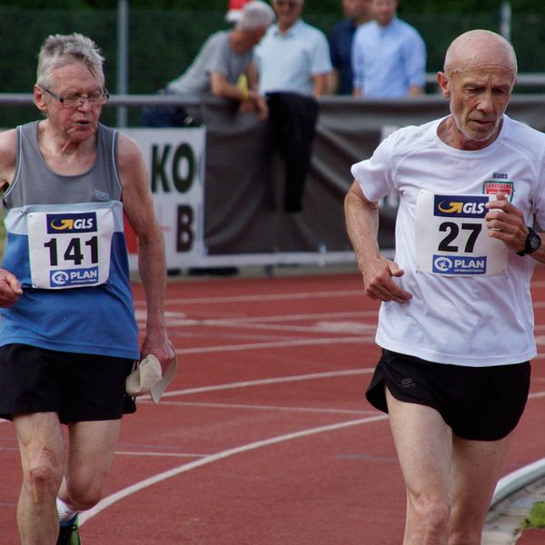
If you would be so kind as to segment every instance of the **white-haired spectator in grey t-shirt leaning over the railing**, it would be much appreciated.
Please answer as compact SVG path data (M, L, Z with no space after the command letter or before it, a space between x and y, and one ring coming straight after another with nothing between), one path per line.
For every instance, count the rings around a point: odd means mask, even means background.
M253 0L243 6L233 30L214 33L180 77L167 84L163 94L176 94L190 99L221 96L241 104L240 112L255 112L266 119L267 104L256 91L257 74L253 64L253 47L262 39L274 20L270 5ZM195 124L198 114L191 106L145 107L142 124L151 127Z

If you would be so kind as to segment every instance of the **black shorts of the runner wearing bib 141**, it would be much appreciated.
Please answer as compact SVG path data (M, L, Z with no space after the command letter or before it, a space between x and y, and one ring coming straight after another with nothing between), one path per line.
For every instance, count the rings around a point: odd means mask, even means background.
M0 417L53 411L64 424L117 420L136 411L125 393L133 365L124 358L7 344L0 347Z

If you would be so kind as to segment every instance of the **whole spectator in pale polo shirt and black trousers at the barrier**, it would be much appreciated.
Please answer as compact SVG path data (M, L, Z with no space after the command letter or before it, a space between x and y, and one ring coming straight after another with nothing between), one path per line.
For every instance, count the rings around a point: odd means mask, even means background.
M272 0L278 19L255 48L259 90L270 109L271 145L285 163L284 210L302 211L318 118L316 96L329 92L332 64L327 38L302 21L303 0Z

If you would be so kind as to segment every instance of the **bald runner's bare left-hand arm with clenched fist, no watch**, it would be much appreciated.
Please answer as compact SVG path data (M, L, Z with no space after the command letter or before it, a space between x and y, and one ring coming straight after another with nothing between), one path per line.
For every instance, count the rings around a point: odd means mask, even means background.
M382 257L379 250L378 203L368 201L360 184L354 181L344 200L344 211L365 294L380 301L408 302L411 293L402 290L392 279L402 276L403 271L397 263Z

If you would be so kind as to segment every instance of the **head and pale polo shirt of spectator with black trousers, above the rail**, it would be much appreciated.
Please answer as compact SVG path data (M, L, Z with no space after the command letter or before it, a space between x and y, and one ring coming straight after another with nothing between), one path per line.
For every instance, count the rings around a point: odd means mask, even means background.
M302 18L303 0L273 0L278 24L255 48L259 91L327 94L332 72L329 45L321 30Z

